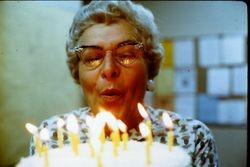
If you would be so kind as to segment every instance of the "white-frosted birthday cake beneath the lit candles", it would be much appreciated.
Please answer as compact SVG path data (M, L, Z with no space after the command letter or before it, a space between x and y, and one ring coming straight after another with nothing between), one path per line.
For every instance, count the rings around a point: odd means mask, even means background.
M130 140L127 148L118 147L114 154L113 143L106 141L102 151L91 153L89 144L80 144L79 152L75 154L70 146L48 150L47 165L45 156L21 158L16 167L186 167L191 166L190 156L180 147L173 146L171 150L166 144L153 142L147 154L146 142ZM148 159L150 158L150 160ZM149 160L149 161L148 161Z

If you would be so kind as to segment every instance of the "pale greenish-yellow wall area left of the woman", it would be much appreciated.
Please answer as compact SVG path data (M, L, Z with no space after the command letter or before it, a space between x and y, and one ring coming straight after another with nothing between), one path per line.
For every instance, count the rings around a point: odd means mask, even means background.
M39 125L82 104L65 54L74 14L39 2L0 2L0 166L28 155L26 122Z

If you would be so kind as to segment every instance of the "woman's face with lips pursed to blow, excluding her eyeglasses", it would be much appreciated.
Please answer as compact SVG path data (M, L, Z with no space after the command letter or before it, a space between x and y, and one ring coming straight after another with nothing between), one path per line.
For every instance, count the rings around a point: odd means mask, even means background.
M79 39L78 45L93 45L102 48L106 55L102 63L94 69L86 69L83 62L79 65L80 85L86 101L94 114L100 108L112 112L117 119L128 126L141 119L137 103L143 103L148 80L147 64L141 56L126 67L114 59L113 51L118 44L137 41L137 31L123 20L109 25L97 24L88 28Z

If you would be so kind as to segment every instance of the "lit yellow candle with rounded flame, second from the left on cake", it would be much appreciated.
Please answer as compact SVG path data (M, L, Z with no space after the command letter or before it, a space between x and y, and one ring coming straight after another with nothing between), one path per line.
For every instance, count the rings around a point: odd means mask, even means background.
M48 145L47 145L47 142L49 140L49 131L48 131L48 129L43 128L41 130L41 132L40 132L40 138L44 142L42 144L42 152L44 153L44 158L45 158L44 165L45 165L45 167L48 167L49 166L49 156L48 156L48 150L49 150L49 148L48 148Z

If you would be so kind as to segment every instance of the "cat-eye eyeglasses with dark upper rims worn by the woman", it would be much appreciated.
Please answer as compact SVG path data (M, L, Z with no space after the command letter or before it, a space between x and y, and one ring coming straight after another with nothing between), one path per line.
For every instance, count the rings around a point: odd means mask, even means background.
M102 64L107 51L112 52L113 58L119 64L130 67L143 55L143 44L134 40L127 40L119 43L112 50L104 50L96 45L83 45L75 48L75 53L87 70L97 68Z

